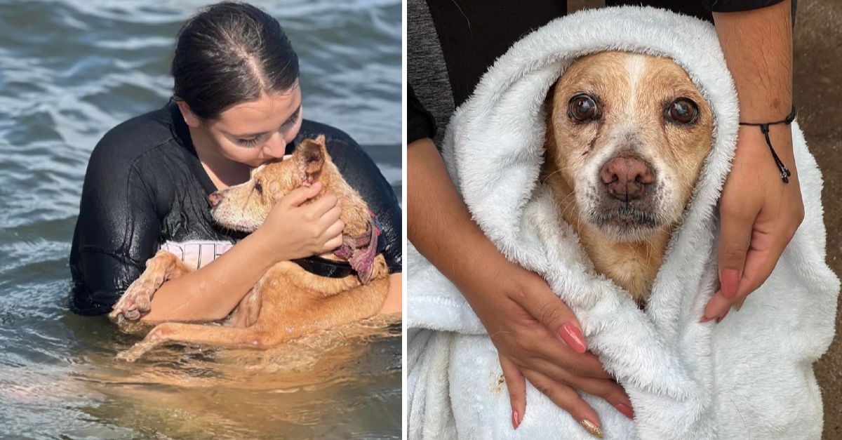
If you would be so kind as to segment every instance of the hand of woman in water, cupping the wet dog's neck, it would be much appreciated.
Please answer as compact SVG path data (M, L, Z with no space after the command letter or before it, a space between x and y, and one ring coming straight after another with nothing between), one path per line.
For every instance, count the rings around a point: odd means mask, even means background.
M312 203L322 183L302 186L281 197L264 223L254 233L264 240L264 249L277 261L320 255L342 245L345 228L339 220L336 196L325 193Z

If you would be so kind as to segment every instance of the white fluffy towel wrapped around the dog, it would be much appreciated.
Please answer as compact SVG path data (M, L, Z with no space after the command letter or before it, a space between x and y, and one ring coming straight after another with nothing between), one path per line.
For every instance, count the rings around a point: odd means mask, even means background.
M672 58L714 113L710 156L645 310L593 272L537 182L547 91L575 58L598 51ZM795 123L801 228L739 313L719 325L699 323L717 282L716 205L737 131L737 94L711 24L635 7L573 13L526 35L450 122L445 162L472 216L509 260L546 278L580 320L589 349L632 398L634 421L584 394L605 438L821 437L813 362L834 335L839 280L824 261L822 177ZM409 438L592 438L531 385L523 421L512 428L485 329L411 244L407 309Z

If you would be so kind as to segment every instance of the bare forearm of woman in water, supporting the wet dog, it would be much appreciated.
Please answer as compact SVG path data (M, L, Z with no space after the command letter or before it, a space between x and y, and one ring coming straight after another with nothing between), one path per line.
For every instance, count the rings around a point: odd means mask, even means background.
M216 260L165 282L152 298L144 320L212 321L225 318L274 265L260 231L252 233Z

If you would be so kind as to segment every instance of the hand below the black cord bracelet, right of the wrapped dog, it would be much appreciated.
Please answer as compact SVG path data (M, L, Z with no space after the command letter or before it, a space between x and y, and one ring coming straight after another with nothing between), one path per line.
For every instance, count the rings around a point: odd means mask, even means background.
M804 218L790 127L771 126L770 139L791 171L789 183L781 181L763 133L757 127L743 126L719 207L720 288L707 303L701 322L719 322L732 306L735 310L742 307L749 293L775 269Z

